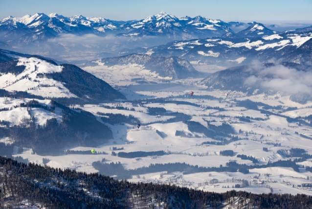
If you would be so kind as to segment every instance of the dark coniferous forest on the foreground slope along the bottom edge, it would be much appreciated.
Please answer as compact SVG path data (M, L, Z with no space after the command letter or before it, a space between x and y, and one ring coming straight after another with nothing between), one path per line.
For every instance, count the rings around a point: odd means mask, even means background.
M245 191L203 192L175 185L117 181L97 173L82 173L0 157L0 208L49 209L308 209L304 194L252 194ZM238 205L237 205L238 203Z

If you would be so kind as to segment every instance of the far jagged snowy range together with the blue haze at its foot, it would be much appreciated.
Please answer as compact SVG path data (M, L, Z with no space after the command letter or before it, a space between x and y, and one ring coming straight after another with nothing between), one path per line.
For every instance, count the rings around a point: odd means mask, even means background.
M178 18L165 12L138 21L36 13L0 19L0 48L18 49L23 53L41 54L58 60L72 56L68 52L79 51L76 55L85 55L84 60L90 60L89 54L94 56L94 52L115 54L123 48L222 36L233 33L230 26L235 24L201 16Z

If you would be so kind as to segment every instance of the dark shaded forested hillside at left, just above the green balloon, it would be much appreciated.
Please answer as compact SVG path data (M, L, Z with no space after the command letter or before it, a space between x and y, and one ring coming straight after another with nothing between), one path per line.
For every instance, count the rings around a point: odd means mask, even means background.
M54 112L56 108L62 110L62 121L56 118L47 119L43 126L36 126L35 118L24 124L0 127L0 137L9 137L15 146L29 147L39 155L59 155L67 146L97 146L112 138L111 130L96 117L83 110L72 110L55 101L51 101L51 108L40 105L31 100L20 107L41 108Z

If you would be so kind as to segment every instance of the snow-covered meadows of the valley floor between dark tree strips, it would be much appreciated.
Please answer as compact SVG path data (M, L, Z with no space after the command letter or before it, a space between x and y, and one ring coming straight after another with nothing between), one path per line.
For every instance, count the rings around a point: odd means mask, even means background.
M261 114L260 111L248 110L245 107L235 106L232 100L234 98L238 100L245 100L248 98L253 101L261 101L268 105L280 105L281 103L279 101L283 101L283 105L285 106L302 108L295 111L284 112L283 115L291 117L309 115L311 108L305 108L307 105L294 103L289 100L289 97L277 98L276 96L265 96L262 94L253 97L245 97L242 93L233 92L226 98L223 91L207 92L205 90L194 90L195 95L213 95L221 98L220 100L208 100L195 99L188 95L189 91L197 88L193 86L188 86L187 90L184 88L177 88L175 91L172 89L171 91L166 91L167 86L165 85L164 89L159 88L159 85L157 88L156 91L132 91L125 89L123 92L125 94L131 94L131 96L128 95L130 98L128 96L127 98L132 100L151 98L151 96L153 96L153 98L170 96L173 100L190 102L195 104L195 106L174 103L147 103L143 106L137 106L131 103L131 101L84 105L84 107L76 105L77 108L94 114L101 122L103 121L100 119L100 115L97 114L98 112L104 114L122 114L125 116L132 115L138 118L142 125L137 129L136 126L127 123L115 125L105 123L110 127L113 133L113 139L110 139L108 143L99 145L98 147L68 148L81 151L89 151L94 148L97 152L108 153L107 155L92 155L90 152L89 155L68 154L65 156L39 156L32 154L32 151L25 147L22 154L16 153L14 156L22 156L24 159L27 158L30 162L40 164L43 164L43 158L47 158L49 162L46 164L49 166L72 168L77 171L93 173L98 170L92 166L92 163L102 161L102 159L105 159L104 163L120 162L125 169L140 168L152 163L187 163L194 166L219 167L221 165L226 166L226 163L230 161L235 161L239 164L253 164L249 160L237 158L236 155L252 156L258 160L258 164L266 164L268 162L272 163L279 160L285 161L293 159L278 154L277 151L280 149L289 150L290 148L301 148L305 149L309 154L312 153L312 140L300 136L300 134L306 136L312 135L312 131L310 131L312 130L311 127L306 127L304 125L298 126L298 124L290 123L286 118L281 116L266 116L265 114ZM185 97L181 95L185 95ZM179 96L179 98L175 99L175 96ZM17 104L23 101L12 100L10 102ZM48 104L47 100L39 102ZM117 105L123 106L124 108L127 107L127 110L107 108L107 106L114 108ZM2 106L10 108L9 104L2 103L1 107ZM220 111L217 108L207 109L205 108L207 106L224 108L224 110ZM234 136L238 136L242 139L247 136L248 139L233 141L225 145L204 145L202 143L205 141L218 140L208 138L202 133L189 131L187 124L183 123L183 121L164 123L163 121L174 118L175 116L152 116L148 114L148 107L161 107L164 108L167 113L178 112L191 115L191 121L199 122L205 127L208 127L206 121L214 121L211 122L211 124L217 126L225 122L234 130ZM134 110L128 110L131 108ZM18 111L19 109L16 108L10 112L15 114L14 110ZM31 110L30 113L37 118L36 123L38 124L42 124L45 118L51 117L51 115L45 112L36 113L35 111L36 110ZM264 120L251 119L250 122L244 122L239 120L238 117L241 116L261 117ZM61 119L61 117L59 118ZM14 121L12 121L12 123L13 122ZM156 133L156 130L162 134L163 138ZM188 137L176 136L177 130L188 134ZM297 133L299 133L299 135ZM274 146L273 144L280 144L280 146ZM123 150L115 150L114 152L116 153L120 151L129 153L135 151L151 152L163 150L166 154L158 156L157 158L151 158L150 156L139 159L121 158L111 155L112 147L123 148ZM264 147L268 149L267 152L263 150ZM234 156L221 156L220 151L222 150L233 150ZM300 167L303 165L312 166L312 162L309 160L297 164ZM244 179L248 181L249 186L234 189L246 190L254 193L268 193L273 189L274 193L312 194L310 187L301 187L301 184L311 183L311 173L306 171L305 168L299 168L299 170L300 172L296 172L288 167L267 167L250 169L248 174L243 174L241 172L201 172L185 175L181 172L167 174L166 171L163 171L133 176L132 179L128 180L133 182L171 183L205 191L223 192L233 189L233 186L241 184Z

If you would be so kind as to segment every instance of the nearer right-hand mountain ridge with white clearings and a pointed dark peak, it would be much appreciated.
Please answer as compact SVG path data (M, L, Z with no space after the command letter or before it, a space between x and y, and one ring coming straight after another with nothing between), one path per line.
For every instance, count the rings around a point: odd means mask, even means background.
M263 34L259 34L264 31ZM243 32L243 31L242 31ZM231 33L232 34L232 33ZM120 54L145 53L152 56L177 56L187 59L192 64L233 65L248 63L253 60L305 63L312 58L312 28L302 28L275 34L260 23L253 23L246 30L246 36L223 37L173 41L166 45L124 49ZM240 36L241 32L237 33ZM253 35L252 35L253 34ZM236 36L236 34L234 34ZM234 36L233 35L233 36ZM257 37L259 36L259 37Z

